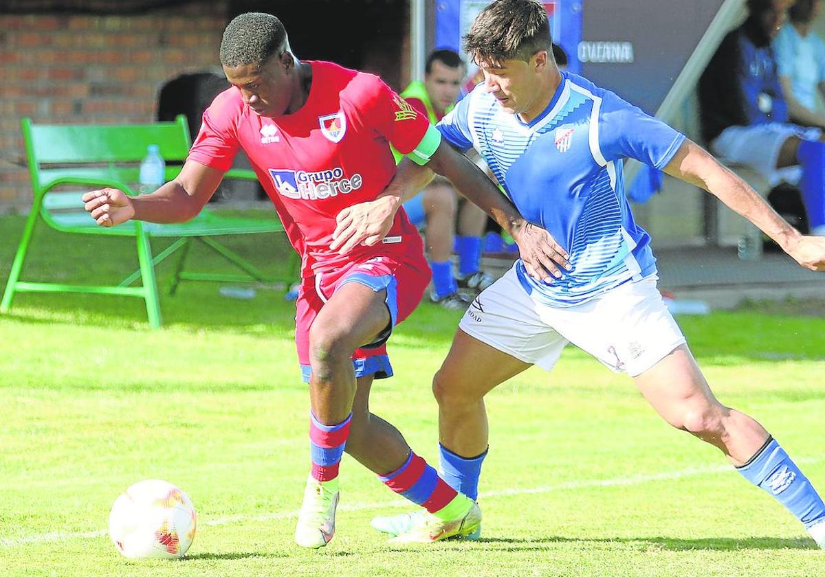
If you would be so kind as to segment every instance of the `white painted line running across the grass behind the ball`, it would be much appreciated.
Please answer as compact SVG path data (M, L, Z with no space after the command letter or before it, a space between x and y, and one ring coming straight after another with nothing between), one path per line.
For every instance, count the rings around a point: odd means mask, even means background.
M810 464L815 462L825 461L823 457L813 458L799 458L794 459L799 464ZM716 473L732 472L730 465L714 465L709 467L689 467L681 471L665 471L661 473L654 473L652 475L633 475L616 477L613 479L591 479L586 481L569 481L559 485L546 485L540 487L524 487L521 489L502 489L493 490L486 493L481 493L479 499L496 499L498 497L511 497L515 495L538 495L542 493L552 493L557 490L571 490L571 489L585 489L588 487L612 487L612 486L631 486L642 485L643 483L650 483L653 481L672 481L675 479L684 479L686 477L714 475ZM410 506L407 500L392 500L383 501L381 503L353 503L342 504L338 507L339 511L363 511L370 509L386 509L388 507L408 508ZM281 511L280 513L270 513L265 515L229 515L227 517L210 519L198 523L199 525L214 527L217 525L228 525L231 523L247 523L250 521L272 521L276 519L297 518L298 510ZM31 535L29 537L0 537L0 547L20 547L21 545L29 545L32 543L44 543L54 541L68 541L69 539L94 539L97 537L105 537L108 531L101 529L100 531L87 532L64 532L55 531L48 533L40 533L39 535Z

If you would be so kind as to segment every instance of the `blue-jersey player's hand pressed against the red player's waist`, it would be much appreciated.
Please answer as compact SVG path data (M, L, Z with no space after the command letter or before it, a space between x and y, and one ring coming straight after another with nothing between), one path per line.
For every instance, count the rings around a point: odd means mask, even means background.
M329 248L344 255L358 245L378 244L392 228L396 211L398 198L389 195L348 206L336 217L337 227Z

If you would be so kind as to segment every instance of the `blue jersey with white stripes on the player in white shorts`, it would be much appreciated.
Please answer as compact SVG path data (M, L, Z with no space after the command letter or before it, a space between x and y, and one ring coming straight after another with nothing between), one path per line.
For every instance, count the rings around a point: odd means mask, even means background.
M568 251L573 270L551 284L531 278L518 261L521 285L540 302L569 307L656 273L650 237L625 199L622 160L662 168L684 135L566 72L530 124L502 110L482 83L437 128L455 147L476 148L521 215Z

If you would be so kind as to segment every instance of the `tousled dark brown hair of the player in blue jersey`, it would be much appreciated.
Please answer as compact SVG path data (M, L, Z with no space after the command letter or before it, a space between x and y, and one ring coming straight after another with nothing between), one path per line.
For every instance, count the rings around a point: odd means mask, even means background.
M524 60L552 49L547 11L535 0L496 0L464 36L464 50L478 62Z

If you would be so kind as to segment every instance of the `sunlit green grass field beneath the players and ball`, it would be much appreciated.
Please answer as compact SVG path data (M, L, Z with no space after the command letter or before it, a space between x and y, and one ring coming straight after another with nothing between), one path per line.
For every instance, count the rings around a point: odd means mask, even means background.
M0 287L22 218L0 218ZM278 237L233 239L274 270ZM128 241L40 228L29 279L128 274ZM195 263L216 263L198 253ZM159 270L161 284L168 269ZM292 542L309 470L309 397L294 307L259 288L224 298L183 284L149 331L137 299L21 295L0 317L0 570L3 575L823 575L825 551L714 448L670 429L626 377L576 349L488 397L481 542L392 547L370 518L407 510L350 457L337 535ZM422 305L398 327L396 377L373 410L436 459L431 375L457 313ZM717 395L756 416L825 490L825 318L682 317ZM199 514L182 561L128 561L106 534L135 481L181 486Z

